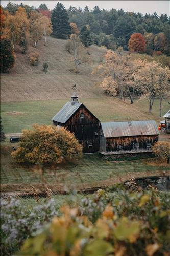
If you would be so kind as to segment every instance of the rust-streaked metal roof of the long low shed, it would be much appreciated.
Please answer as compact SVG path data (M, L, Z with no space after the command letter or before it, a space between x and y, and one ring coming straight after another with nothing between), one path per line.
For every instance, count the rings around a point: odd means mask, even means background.
M132 122L101 123L105 138L140 135L158 135L159 131L154 120Z

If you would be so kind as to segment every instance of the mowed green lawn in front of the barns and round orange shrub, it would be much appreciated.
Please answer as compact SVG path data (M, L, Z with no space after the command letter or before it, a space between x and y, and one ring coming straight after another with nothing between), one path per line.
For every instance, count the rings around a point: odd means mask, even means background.
M154 172L168 170L168 166L160 167L154 163L154 159L142 159L135 161L114 161L110 162L99 154L83 155L83 157L71 164L66 164L58 169L46 169L42 176L34 167L23 167L13 162L12 146L9 142L2 144L1 158L1 184L19 183L48 183L60 184L93 184L98 185L99 181L105 181L114 177L121 177L126 173ZM151 162L153 164L151 164Z

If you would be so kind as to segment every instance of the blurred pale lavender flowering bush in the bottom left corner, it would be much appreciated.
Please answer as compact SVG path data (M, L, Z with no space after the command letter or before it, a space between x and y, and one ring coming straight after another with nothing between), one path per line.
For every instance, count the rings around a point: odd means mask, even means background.
M1 255L11 255L28 236L58 215L54 205L50 199L26 212L19 199L1 200Z

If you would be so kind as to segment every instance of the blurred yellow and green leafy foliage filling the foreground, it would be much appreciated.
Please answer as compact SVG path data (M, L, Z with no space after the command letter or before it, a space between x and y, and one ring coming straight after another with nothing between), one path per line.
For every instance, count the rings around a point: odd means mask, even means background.
M7 211L8 204L2 206L2 212ZM57 201L53 204L57 208ZM74 200L69 205L63 205L59 211L54 211L51 206L53 214L48 211L50 218L45 220L46 215L38 217L41 223L44 221L41 228L38 225L35 231L34 224L34 232L30 232L31 227L27 232L30 222L24 222L24 238L19 237L19 233L23 232L20 227L18 236L9 243L11 231L18 230L17 208L15 206L12 216L13 227L8 229L8 216L3 218L3 225L8 231L6 239L2 239L2 247L6 248L7 244L10 248L20 239L23 245L17 255L169 255L169 195L155 188L134 191L116 186L109 191L100 189L80 202ZM40 208L43 214L47 205ZM11 215L12 212L10 210ZM29 238L25 241L26 237Z

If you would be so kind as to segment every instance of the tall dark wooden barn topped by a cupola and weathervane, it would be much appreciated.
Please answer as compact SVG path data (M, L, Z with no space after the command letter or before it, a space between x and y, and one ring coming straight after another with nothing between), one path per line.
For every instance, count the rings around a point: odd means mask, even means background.
M99 124L96 118L74 93L71 102L67 102L63 108L52 118L53 124L63 126L79 140L83 146L83 153L99 151Z

